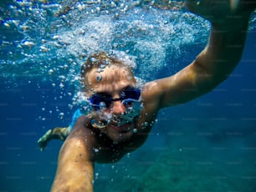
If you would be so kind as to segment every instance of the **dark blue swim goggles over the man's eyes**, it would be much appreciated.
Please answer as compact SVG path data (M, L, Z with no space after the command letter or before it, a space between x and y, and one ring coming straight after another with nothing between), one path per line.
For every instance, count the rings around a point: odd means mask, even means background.
M125 108L129 108L134 102L141 97L139 88L127 87L120 92L120 98L113 99L108 93L94 93L90 96L90 104L93 109L107 109L115 101L121 101Z

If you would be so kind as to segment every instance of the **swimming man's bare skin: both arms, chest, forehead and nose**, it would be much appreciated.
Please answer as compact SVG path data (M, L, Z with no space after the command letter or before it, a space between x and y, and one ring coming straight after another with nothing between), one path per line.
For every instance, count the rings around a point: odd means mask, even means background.
M146 83L141 97L144 108L140 119L127 127L116 129L110 123L104 130L95 129L90 119L81 116L59 152L58 169L51 191L93 191L94 163L112 163L141 146L151 131L160 109L183 104L207 93L228 78L243 54L248 19L255 1L242 1L232 13L229 1L186 1L187 9L212 22L206 48L180 72L167 78ZM248 4L250 3L250 4ZM133 74L125 68L110 66L100 73L104 81L96 80L96 68L86 74L84 83L95 92L110 93L119 98L126 86L134 86ZM89 95L92 92L88 93ZM118 115L125 111L120 101L106 113ZM146 124L144 124L146 122ZM134 133L133 130L137 129Z

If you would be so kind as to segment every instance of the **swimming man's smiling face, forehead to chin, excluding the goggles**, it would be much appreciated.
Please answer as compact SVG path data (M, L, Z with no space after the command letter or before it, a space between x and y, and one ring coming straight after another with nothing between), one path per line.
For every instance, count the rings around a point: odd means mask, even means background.
M110 97L115 101L110 101L103 109L95 109L103 114L103 117L108 120L105 129L102 129L110 139L115 142L125 141L130 139L135 129L135 119L121 123L123 115L127 113L127 105L120 100L120 93L124 93L127 88L134 88L136 81L133 73L127 68L121 66L110 65L99 73L98 68L94 68L87 73L85 83L90 84L89 97L99 93L96 99ZM108 118L107 118L108 117Z

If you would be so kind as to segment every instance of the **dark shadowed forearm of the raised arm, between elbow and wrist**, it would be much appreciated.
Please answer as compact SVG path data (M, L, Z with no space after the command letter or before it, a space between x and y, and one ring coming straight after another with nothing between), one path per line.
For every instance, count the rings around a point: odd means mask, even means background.
M248 18L246 15L232 18L228 24L212 24L207 47L194 62L206 71L212 83L221 83L238 65L243 55Z

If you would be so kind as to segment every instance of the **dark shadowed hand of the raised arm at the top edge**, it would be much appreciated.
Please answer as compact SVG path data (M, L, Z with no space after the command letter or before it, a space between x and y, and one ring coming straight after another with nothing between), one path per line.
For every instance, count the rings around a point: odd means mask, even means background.
M256 8L256 0L186 0L188 11L214 24L235 24L238 18L248 18Z

